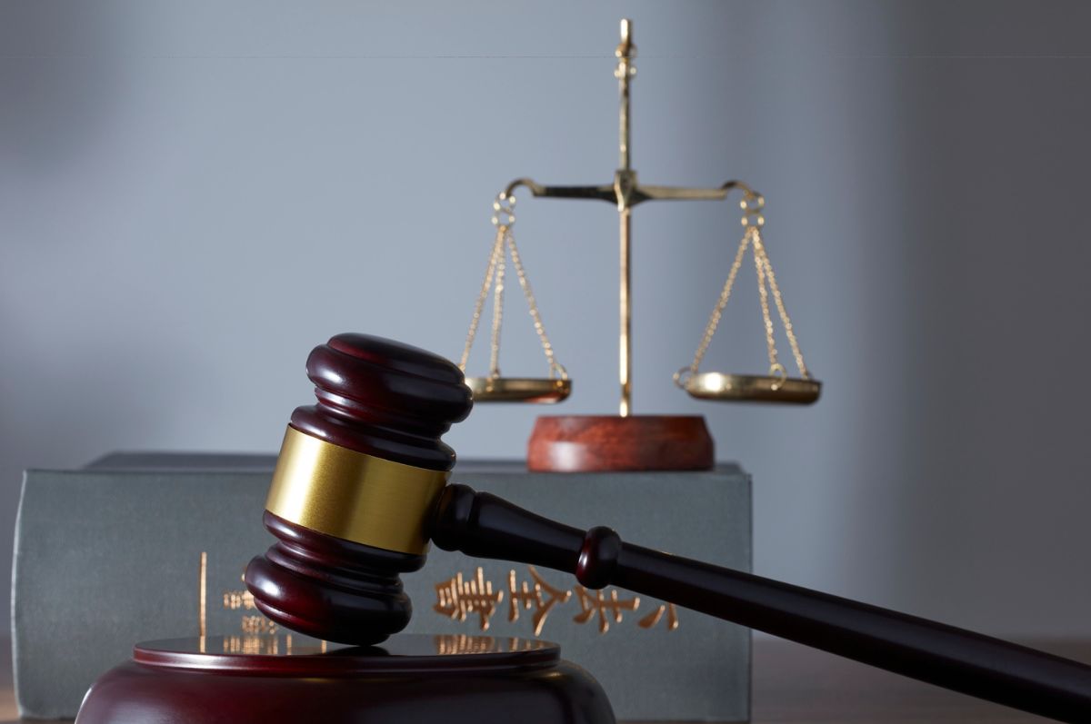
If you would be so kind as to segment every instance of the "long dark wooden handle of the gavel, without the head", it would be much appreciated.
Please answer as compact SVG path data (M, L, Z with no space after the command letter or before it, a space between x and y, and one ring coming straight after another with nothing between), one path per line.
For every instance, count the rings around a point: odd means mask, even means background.
M1091 722L1091 666L925 618L622 543L489 493L448 485L430 523L445 551L618 586L954 691L1042 716Z

